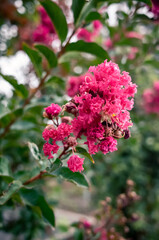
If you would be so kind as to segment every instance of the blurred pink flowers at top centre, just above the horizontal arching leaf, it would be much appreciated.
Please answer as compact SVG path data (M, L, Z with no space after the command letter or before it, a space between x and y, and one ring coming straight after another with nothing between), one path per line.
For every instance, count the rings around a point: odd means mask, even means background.
M99 20L95 20L93 21L93 32L90 32L85 28L80 28L77 32L77 38L86 42L93 42L94 38L99 35L102 26L103 25Z

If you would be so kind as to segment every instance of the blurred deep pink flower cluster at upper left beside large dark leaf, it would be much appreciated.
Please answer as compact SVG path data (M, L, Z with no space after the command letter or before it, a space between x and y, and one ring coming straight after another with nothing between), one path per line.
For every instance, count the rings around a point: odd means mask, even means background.
M57 34L45 9L40 6L38 11L40 13L41 22L33 32L33 41L49 45L53 39L57 38Z

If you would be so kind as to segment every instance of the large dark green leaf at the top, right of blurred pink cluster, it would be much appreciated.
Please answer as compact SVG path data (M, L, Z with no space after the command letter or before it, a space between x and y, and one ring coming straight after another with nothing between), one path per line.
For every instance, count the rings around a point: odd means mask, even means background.
M61 42L64 42L67 37L68 27L63 11L56 3L50 0L43 0L40 3L51 18Z

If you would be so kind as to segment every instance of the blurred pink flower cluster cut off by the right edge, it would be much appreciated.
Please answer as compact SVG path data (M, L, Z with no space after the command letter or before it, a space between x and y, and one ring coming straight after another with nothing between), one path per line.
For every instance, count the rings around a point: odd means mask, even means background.
M143 93L144 109L147 113L159 114L159 81L154 82L153 88Z

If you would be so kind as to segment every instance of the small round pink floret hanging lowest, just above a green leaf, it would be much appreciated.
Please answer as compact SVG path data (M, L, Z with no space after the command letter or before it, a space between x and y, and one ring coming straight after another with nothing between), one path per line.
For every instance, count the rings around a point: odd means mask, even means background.
M73 155L67 161L68 168L72 172L78 172L78 171L81 172L84 170L83 162L84 162L84 158L80 158L77 155Z

